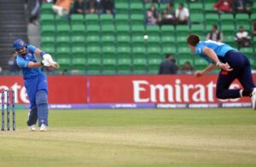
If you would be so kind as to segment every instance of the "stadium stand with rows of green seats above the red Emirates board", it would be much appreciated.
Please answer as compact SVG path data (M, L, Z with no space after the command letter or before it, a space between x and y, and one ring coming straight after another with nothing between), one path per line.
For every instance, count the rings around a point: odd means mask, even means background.
M54 14L53 3L42 3L38 12L37 31L26 33L26 23L32 15L36 1L1 1L1 64L8 70L7 62L13 50L11 44L16 37L31 39L38 48L54 56L62 65L61 70L79 74L156 74L159 64L166 54L174 55L178 66L186 60L191 61L195 69L207 65L200 57L190 54L185 43L189 33L198 34L202 40L211 31L212 25L218 25L224 34L224 43L237 48L236 31L239 26L251 34L256 14L218 14L212 6L215 0L174 2L184 3L189 9L188 25L145 25L145 14L151 3L142 0L119 0L114 2L116 14L71 14L61 18ZM166 3L154 3L157 11L166 8ZM252 11L256 10L253 3ZM71 7L72 8L72 7ZM9 18L9 14L12 17ZM143 35L148 34L148 41ZM241 48L247 54L255 68L255 37L248 48ZM38 42L37 42L38 40ZM34 42L36 41L36 42ZM57 73L57 72L55 72Z

